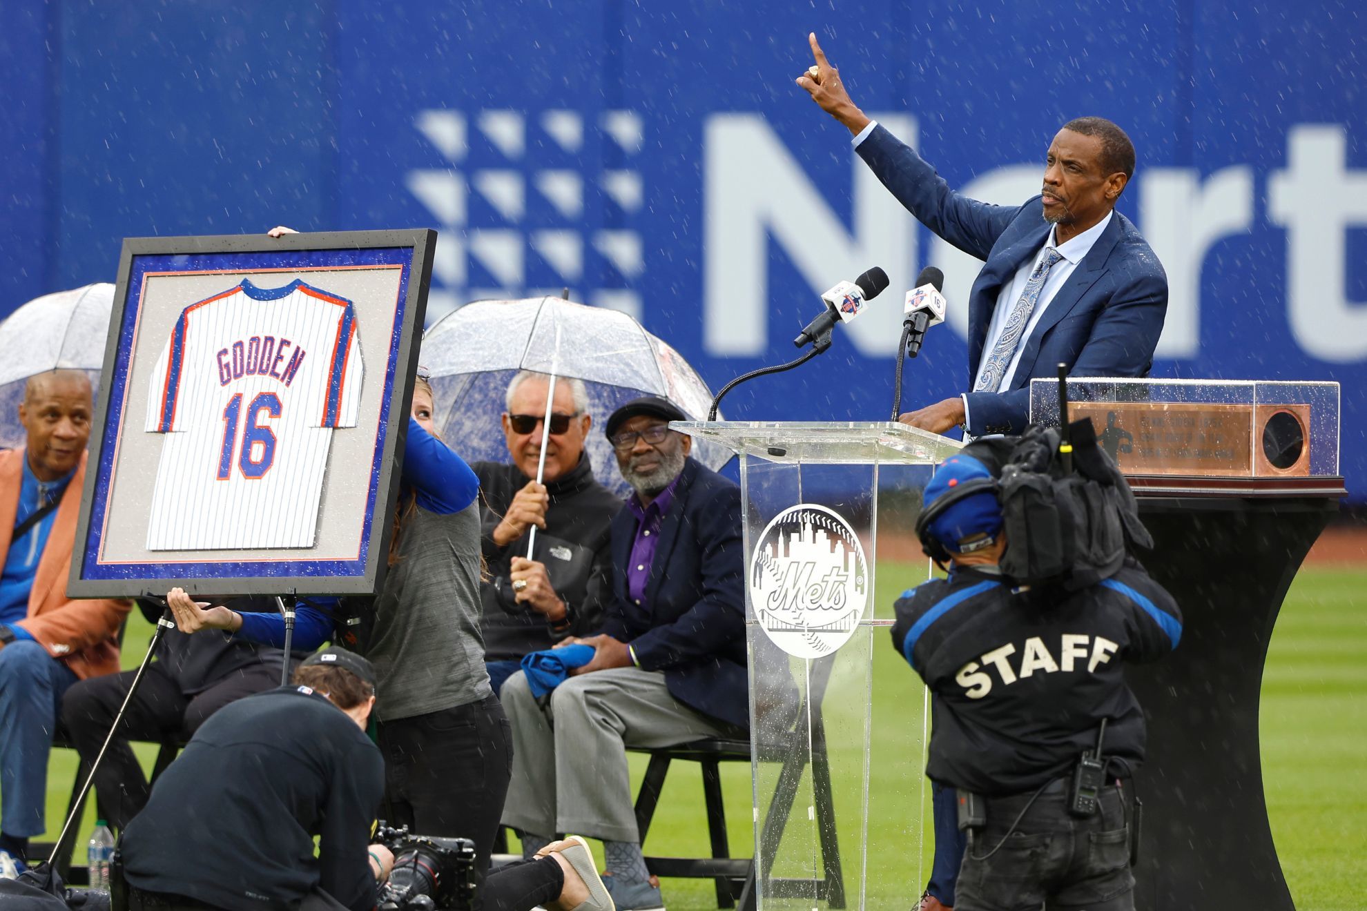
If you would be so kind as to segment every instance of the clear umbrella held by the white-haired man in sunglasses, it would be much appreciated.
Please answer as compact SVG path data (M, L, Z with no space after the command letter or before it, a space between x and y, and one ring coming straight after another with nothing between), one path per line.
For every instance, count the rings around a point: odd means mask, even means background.
M603 436L607 417L642 395L668 399L697 421L712 403L697 372L636 320L560 298L468 303L424 333L418 362L432 381L442 436L470 462L507 462L499 415L518 370L582 380L595 422L586 445L593 474L623 496L627 486ZM715 470L731 453L694 440L693 456Z

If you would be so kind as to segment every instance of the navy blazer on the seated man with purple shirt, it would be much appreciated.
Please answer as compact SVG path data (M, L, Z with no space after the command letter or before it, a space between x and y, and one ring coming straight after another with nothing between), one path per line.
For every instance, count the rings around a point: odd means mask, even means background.
M612 519L612 600L603 632L629 642L647 671L663 671L679 702L749 728L741 489L689 459L660 524L645 604L632 604L626 565L636 515Z

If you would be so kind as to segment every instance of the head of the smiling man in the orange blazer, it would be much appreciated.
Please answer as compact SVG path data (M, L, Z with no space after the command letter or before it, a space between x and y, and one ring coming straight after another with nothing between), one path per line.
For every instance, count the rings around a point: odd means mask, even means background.
M83 370L49 370L29 377L19 423L29 433L29 468L40 481L59 481L81 463L90 441L94 402Z

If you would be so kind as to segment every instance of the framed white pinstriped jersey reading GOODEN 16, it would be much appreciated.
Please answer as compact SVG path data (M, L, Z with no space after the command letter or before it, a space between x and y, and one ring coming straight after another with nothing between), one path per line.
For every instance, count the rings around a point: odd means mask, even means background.
M376 591L435 244L126 239L71 595Z

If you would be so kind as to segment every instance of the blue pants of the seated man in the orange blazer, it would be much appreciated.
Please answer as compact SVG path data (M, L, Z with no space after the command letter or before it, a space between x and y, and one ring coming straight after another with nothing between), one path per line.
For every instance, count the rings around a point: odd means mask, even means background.
M0 649L0 832L31 839L46 830L48 753L62 694L77 682L37 642Z

